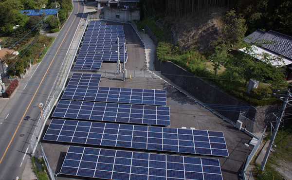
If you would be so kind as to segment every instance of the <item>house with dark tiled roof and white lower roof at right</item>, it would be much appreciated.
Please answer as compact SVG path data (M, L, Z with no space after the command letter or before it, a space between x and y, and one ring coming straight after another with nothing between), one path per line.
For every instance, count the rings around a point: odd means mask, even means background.
M256 30L243 41L252 44L253 57L261 60L264 56L271 58L274 66L286 66L286 79L292 80L292 37L270 30ZM244 51L245 49L240 49ZM277 59L282 59L278 61Z

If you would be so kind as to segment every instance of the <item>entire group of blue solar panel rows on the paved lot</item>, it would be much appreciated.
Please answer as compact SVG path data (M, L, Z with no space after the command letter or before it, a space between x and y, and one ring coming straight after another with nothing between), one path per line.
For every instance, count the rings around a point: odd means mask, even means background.
M117 61L117 37L123 46L123 26L91 21L73 69L99 70L103 61ZM126 53L125 61L127 57ZM52 119L43 140L229 156L223 132L161 127L170 125L165 90L99 87L100 78L101 74L73 73L52 115L62 119ZM217 159L77 146L69 147L60 174L113 180L222 180Z

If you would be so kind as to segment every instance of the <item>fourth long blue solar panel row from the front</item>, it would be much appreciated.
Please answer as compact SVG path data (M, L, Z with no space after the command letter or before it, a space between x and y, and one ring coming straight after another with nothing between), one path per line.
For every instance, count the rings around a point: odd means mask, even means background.
M74 84L76 84L74 82ZM61 99L166 106L166 90L69 86Z

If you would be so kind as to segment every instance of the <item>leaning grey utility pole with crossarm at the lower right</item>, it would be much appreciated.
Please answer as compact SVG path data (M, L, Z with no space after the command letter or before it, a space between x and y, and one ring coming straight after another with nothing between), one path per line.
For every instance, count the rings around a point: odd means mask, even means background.
M283 106L282 106L282 112L281 112L281 116L280 118L277 118L277 124L275 126L275 130L273 132L273 135L271 137L271 141L270 141L270 144L268 146L268 149L267 149L267 152L266 152L266 155L264 157L264 160L262 162L262 165L259 169L259 175L262 175L263 172L264 172L264 169L265 169L265 166L266 166L266 163L267 163L267 160L269 158L269 154L270 154L270 151L271 151L271 148L272 148L272 145L274 144L274 140L275 140L275 137L276 137L276 134L277 134L277 131L278 131L278 128L280 126L280 123L282 121L282 118L283 118L283 115L284 115L284 112L285 112L285 108L286 108L286 105L289 104L289 98L291 98L291 92L288 90L286 94L275 94L273 93L274 95L282 95L285 97L285 101L283 103Z

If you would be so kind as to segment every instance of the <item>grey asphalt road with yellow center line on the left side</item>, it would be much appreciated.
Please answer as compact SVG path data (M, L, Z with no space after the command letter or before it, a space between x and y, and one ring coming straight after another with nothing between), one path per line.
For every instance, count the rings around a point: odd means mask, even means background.
M40 117L37 105L47 101L84 12L82 0L74 9L51 48L31 76L20 80L18 90L0 114L0 180L21 179L29 153L29 140ZM44 107L45 108L45 107Z

